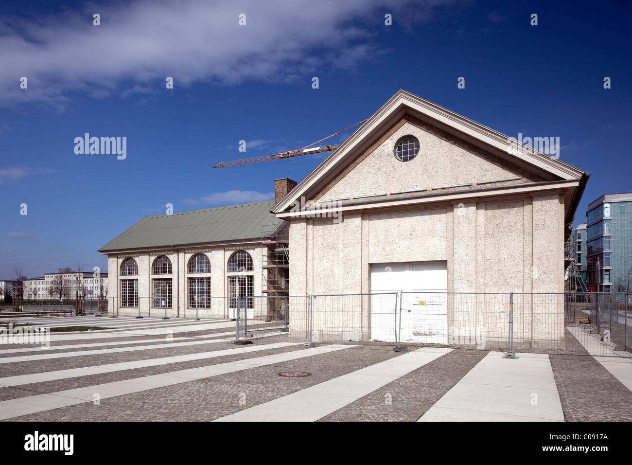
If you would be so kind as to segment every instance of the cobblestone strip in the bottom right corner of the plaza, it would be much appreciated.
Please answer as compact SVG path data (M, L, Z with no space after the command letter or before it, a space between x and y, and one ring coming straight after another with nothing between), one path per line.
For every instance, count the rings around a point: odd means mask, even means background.
M632 393L593 357L549 358L566 421L632 421Z

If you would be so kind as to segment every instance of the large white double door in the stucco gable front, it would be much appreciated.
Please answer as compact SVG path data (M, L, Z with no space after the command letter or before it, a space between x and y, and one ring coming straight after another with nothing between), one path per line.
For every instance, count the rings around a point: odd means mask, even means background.
M372 297L371 335L376 340L447 343L447 264L445 261L375 263L371 292L401 293L401 313Z

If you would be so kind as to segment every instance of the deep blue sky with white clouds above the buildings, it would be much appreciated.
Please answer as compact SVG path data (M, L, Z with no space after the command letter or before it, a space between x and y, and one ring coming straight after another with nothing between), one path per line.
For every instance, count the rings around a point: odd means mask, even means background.
M630 13L607 1L3 3L0 279L106 268L97 249L167 203L271 198L274 178L300 181L327 154L211 166L306 146L400 87L512 137L559 137L560 159L592 172L585 221L589 202L632 190ZM84 133L126 137L126 159L75 154Z

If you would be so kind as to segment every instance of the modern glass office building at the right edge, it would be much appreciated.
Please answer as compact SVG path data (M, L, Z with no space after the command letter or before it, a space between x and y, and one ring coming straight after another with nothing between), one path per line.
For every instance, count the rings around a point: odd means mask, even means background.
M632 192L606 194L586 211L590 292L632 292Z

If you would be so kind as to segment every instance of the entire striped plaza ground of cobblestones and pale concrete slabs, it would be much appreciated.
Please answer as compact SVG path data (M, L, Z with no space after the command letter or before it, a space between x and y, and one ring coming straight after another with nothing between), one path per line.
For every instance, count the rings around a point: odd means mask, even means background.
M590 356L591 347L507 359L278 338L234 345L228 319L20 318L28 322L116 329L51 333L50 347L0 345L3 421L632 420L632 359Z

